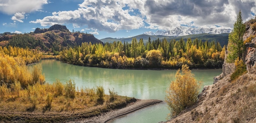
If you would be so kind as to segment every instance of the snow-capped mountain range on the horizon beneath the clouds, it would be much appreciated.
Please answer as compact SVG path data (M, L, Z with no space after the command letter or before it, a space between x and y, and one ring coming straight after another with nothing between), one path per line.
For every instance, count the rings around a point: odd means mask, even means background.
M143 34L146 35L164 35L164 36L174 36L174 37L179 37L179 36L184 36L184 35L195 35L195 34L202 34L202 33L209 33L209 34L221 34L221 33L230 33L232 29L225 29L225 28L211 28L211 27L206 27L206 28L193 28L193 27L188 27L188 26L179 26L176 27L173 30L167 30L167 31L162 31L162 30L157 30L157 32L153 33L152 31L145 32Z

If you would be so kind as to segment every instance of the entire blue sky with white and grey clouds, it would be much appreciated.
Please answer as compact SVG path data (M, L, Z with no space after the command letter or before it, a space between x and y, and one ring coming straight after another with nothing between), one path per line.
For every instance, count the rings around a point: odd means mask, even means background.
M97 39L127 38L177 26L233 28L255 17L256 0L0 0L0 33L54 24Z

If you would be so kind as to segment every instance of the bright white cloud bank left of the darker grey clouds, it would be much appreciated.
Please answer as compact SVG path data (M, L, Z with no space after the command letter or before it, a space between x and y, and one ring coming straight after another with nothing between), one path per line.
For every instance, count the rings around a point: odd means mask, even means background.
M118 4L119 0L85 0L79 4L75 11L60 11L52 13L52 16L36 19L31 23L40 23L41 26L53 24L72 23L73 26L85 26L97 28L108 32L117 30L138 29L144 26L143 19L139 15L130 15L129 11L123 10L125 4ZM121 2L120 2L121 3Z

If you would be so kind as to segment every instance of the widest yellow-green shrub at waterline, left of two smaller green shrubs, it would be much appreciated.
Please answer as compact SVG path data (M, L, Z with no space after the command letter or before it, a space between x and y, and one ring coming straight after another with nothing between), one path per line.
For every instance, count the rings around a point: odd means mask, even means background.
M73 81L73 84L72 84L72 80L67 81L64 88L65 88L65 97L74 99L76 96L75 82Z

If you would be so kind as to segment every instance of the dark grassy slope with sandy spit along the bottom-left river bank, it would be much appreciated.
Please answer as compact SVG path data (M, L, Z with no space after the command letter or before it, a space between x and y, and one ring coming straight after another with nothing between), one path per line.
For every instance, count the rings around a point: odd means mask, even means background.
M111 119L126 115L141 108L161 103L161 100L146 99L130 101L125 106L112 107L95 106L94 108L83 111L73 110L70 112L3 112L0 111L0 121L10 123L106 123ZM111 108L111 109L109 109Z

